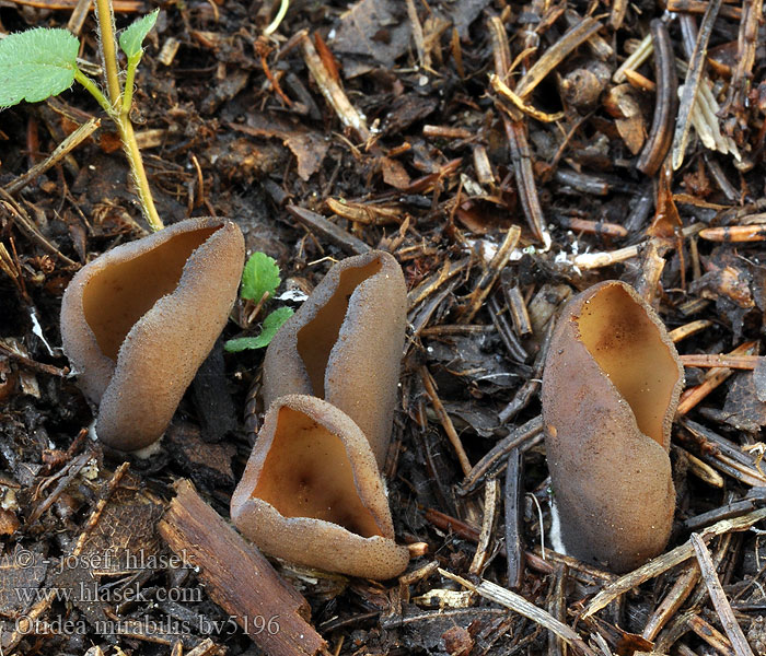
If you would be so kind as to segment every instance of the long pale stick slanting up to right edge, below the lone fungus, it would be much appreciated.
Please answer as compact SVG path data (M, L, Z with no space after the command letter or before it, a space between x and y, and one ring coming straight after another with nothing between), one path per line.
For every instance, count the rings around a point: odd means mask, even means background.
M701 536L704 539L707 539L730 531L747 530L751 526L763 519L766 519L766 508L758 508L757 511L753 511L752 513L747 513L741 517L718 522L709 528L706 528L701 532ZM599 612L612 600L616 599L620 595L624 595L629 589L646 583L654 576L659 576L663 572L666 572L678 563L683 563L693 555L694 547L689 541L684 542L672 551L658 555L645 565L638 567L638 570L634 570L632 572L620 576L617 578L617 581L614 581L604 587L603 590L591 599L591 602L588 605L588 608L585 608L585 612L582 614L582 617L587 618L592 616L594 612Z

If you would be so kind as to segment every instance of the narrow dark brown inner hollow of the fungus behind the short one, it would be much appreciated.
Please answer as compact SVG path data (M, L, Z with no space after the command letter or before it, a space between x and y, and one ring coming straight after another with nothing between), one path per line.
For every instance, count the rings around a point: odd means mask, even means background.
M380 258L376 258L364 267L346 269L340 273L338 289L329 301L316 313L312 321L298 331L298 353L309 373L314 395L321 399L325 397L327 361L335 342L338 341L349 298L353 290L378 273L382 266Z

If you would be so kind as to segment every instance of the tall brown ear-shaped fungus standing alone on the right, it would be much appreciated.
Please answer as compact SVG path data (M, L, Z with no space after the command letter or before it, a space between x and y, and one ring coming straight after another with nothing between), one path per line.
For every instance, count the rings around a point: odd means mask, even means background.
M564 307L543 375L548 467L568 551L626 572L660 553L675 506L670 430L683 367L629 285Z

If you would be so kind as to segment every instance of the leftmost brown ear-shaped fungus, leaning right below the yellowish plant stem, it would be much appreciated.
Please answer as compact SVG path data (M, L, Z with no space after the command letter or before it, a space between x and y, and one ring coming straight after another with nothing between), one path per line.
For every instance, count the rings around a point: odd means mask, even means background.
M189 219L108 250L61 303L63 350L96 433L120 450L160 438L225 326L242 274L236 224Z

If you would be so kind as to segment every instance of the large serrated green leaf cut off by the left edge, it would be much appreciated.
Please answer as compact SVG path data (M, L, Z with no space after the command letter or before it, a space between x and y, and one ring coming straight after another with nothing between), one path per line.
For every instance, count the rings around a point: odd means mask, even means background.
M69 89L79 49L80 42L67 30L36 27L0 40L0 109Z

